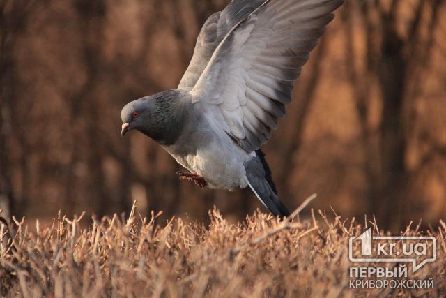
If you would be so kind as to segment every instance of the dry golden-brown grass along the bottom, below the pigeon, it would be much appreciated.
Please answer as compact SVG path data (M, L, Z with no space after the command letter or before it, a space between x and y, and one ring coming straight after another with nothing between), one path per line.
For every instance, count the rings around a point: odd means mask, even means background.
M295 212L295 214L297 214ZM433 289L349 288L348 237L364 226L354 219L279 221L256 212L238 225L217 210L210 225L157 216L79 219L59 214L52 227L1 223L0 283L6 297L352 297L444 296L445 231L438 260L410 278L432 277ZM84 218L85 220L85 218ZM370 225L369 223L367 223ZM420 234L418 228L405 231ZM11 237L12 235L12 237Z

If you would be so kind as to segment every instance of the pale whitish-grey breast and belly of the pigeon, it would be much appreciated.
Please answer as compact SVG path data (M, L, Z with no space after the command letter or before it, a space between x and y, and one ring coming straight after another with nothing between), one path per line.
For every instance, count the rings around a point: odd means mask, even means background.
M245 162L256 156L255 152L248 153L235 144L200 105L191 103L189 112L180 139L164 149L180 165L203 177L210 188L246 188Z

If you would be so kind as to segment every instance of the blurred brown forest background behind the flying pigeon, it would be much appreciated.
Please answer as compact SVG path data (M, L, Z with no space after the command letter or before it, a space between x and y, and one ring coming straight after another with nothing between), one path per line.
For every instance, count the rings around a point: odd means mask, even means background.
M247 191L178 181L121 107L176 88L206 18L228 0L0 0L0 206L52 218L164 211L193 220L261 207ZM263 147L290 209L446 216L446 1L346 0ZM264 209L262 209L265 211Z

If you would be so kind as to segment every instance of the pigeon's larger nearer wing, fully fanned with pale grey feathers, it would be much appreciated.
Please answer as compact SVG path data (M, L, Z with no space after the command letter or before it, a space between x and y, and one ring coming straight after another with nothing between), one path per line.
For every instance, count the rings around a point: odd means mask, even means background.
M269 0L222 39L192 89L216 133L246 151L285 116L294 80L343 0Z

